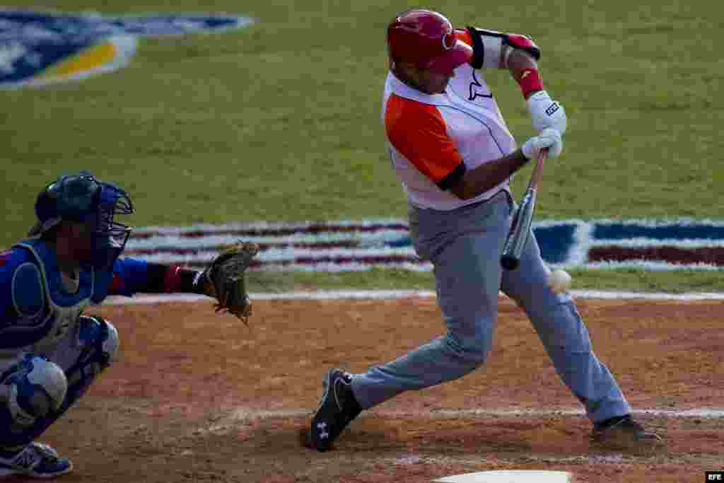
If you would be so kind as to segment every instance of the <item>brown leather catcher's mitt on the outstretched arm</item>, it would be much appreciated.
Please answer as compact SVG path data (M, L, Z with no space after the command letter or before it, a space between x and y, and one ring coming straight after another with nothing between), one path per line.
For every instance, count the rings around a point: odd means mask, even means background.
M258 251L256 243L237 243L219 253L201 272L203 293L216 298L216 311L230 312L245 324L251 316L251 302L246 294L244 273Z

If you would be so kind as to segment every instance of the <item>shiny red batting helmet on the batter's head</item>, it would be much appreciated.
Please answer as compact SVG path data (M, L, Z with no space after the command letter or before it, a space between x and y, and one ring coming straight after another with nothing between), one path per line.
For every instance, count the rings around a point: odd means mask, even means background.
M393 61L449 74L469 62L473 49L455 38L450 20L432 10L413 9L397 15L387 27L387 50Z

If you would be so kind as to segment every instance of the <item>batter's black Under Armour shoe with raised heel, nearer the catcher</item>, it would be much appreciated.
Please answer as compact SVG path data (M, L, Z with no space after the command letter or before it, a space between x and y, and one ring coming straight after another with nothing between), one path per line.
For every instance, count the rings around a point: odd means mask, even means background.
M324 391L319 407L312 419L307 440L312 448L327 451L350 421L362 408L352 392L352 376L348 372L332 369L322 380Z

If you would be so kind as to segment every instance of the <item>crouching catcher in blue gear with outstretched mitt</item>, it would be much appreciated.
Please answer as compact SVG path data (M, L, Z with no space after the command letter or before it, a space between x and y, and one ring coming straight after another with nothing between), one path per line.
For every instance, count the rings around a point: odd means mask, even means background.
M199 293L244 322L245 269L255 243L240 243L202 272L119 258L133 212L117 185L88 172L59 177L38 195L29 238L0 252L0 476L51 478L72 470L35 440L114 360L116 328L84 316L107 295Z

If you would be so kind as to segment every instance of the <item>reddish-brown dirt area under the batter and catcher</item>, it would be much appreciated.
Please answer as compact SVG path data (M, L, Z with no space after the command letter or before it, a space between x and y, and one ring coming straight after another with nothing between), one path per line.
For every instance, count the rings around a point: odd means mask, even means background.
M576 482L702 482L724 467L724 303L578 301L594 348L666 445L589 448L590 423L529 322L501 302L488 363L353 421L336 450L298 444L330 366L362 371L442 333L432 299L257 301L247 329L211 303L106 306L119 361L41 438L63 482L429 482L489 469Z

